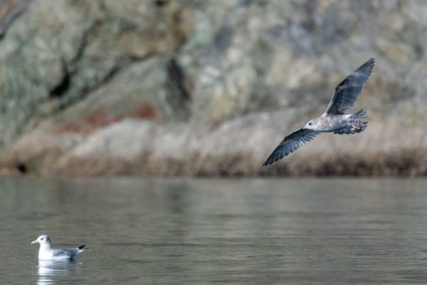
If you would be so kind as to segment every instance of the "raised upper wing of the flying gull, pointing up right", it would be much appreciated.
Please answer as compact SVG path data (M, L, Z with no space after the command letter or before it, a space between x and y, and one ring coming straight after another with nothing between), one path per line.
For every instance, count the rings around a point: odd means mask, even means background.
M357 96L362 92L364 83L374 68L375 58L369 59L350 76L339 83L325 113L329 115L343 115L345 110L353 108Z

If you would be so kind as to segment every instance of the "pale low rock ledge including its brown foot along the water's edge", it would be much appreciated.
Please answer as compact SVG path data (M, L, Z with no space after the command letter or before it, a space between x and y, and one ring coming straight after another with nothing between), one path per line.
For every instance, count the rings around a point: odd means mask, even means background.
M0 156L3 173L135 176L399 176L427 175L426 135L376 120L361 135L325 134L263 167L280 142L280 121L249 115L217 128L126 120L90 135L46 131ZM249 122L249 123L248 123Z

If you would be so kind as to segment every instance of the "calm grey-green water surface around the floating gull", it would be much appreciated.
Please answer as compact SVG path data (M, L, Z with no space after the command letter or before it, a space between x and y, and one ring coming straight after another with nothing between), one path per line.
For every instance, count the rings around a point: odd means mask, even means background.
M0 229L1 284L427 284L425 179L3 177Z

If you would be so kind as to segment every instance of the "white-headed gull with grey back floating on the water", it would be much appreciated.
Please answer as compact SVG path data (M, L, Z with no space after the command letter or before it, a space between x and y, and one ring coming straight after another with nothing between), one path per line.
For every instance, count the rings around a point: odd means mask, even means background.
M38 249L38 259L43 260L64 260L73 259L77 254L85 250L85 246L76 247L74 249L53 249L51 247L51 239L46 235L42 234L31 244L38 242L40 249Z

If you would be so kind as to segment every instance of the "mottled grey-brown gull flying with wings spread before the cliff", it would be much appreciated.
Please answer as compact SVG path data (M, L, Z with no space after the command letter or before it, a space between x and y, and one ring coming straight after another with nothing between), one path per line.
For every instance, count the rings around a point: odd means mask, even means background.
M295 151L306 142L310 142L322 132L348 135L360 133L366 129L368 122L366 120L358 120L367 118L366 111L359 110L359 112L352 115L345 115L344 111L353 108L357 96L362 92L364 83L371 75L374 63L374 58L369 59L369 61L357 68L353 74L347 76L342 83L339 83L325 113L308 121L304 127L287 135L265 160L263 166L270 165L285 155L289 155L290 152Z

